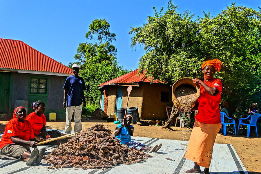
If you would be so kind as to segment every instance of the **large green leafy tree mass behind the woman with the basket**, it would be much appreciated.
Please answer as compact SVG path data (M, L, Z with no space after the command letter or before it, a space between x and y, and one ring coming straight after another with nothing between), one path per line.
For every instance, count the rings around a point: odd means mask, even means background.
M154 8L142 27L132 28L132 46L142 45L140 72L166 83L188 76L203 78L201 65L218 58L222 70L215 77L223 85L222 100L237 104L245 111L250 102L261 101L260 31L261 12L232 3L216 17L204 13L176 12L171 1L166 13Z

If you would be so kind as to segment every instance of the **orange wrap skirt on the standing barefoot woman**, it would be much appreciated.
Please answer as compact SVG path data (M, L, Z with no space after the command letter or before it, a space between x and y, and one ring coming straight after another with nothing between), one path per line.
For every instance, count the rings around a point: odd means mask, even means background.
M209 168L216 136L221 124L207 124L195 120L185 158Z

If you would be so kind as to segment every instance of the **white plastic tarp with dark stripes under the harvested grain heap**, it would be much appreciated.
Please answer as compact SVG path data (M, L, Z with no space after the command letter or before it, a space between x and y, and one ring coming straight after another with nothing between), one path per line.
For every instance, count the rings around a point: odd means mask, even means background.
M0 135L1 137L1 135ZM0 160L0 173L2 174L32 174L32 173L70 173L70 174L153 174L153 173L185 173L194 166L194 162L184 158L188 141L166 140L158 138L132 137L135 142L140 142L147 146L162 143L161 149L157 153L150 153L151 158L146 162L136 164L120 164L113 168L88 169L82 168L58 168L55 170L47 169L44 160L38 166L26 166L26 163L20 160ZM51 146L38 146L38 149L45 147L49 154L54 148ZM166 159L168 158L168 159ZM9 163L9 164L7 164ZM201 167L203 171L204 168ZM242 164L235 149L231 144L215 144L213 148L213 158L210 165L210 173L215 174L248 174Z

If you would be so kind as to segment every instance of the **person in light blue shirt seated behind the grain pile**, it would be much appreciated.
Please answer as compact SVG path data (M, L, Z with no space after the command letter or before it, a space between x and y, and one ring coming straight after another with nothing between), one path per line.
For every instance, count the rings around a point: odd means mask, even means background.
M134 127L133 125L131 125L132 120L133 117L131 115L126 115L126 118L123 119L122 123L118 124L115 128L115 137L120 139L121 144L125 144L125 147L128 146L129 148L136 148L139 151L148 151L148 153L157 152L162 146L161 143L159 145L156 144L153 147L149 147L139 142L134 142L131 140L131 136L133 136L134 132Z

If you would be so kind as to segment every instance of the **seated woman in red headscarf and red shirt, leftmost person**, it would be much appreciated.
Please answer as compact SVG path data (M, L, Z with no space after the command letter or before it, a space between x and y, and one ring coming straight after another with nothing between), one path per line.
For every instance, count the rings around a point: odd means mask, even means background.
M40 152L36 148L35 136L32 127L26 118L26 109L17 107L14 109L14 116L5 128L5 132L0 141L0 158L1 159L23 159L26 165L34 163L40 164L45 153L45 148ZM28 148L35 147L31 152Z

